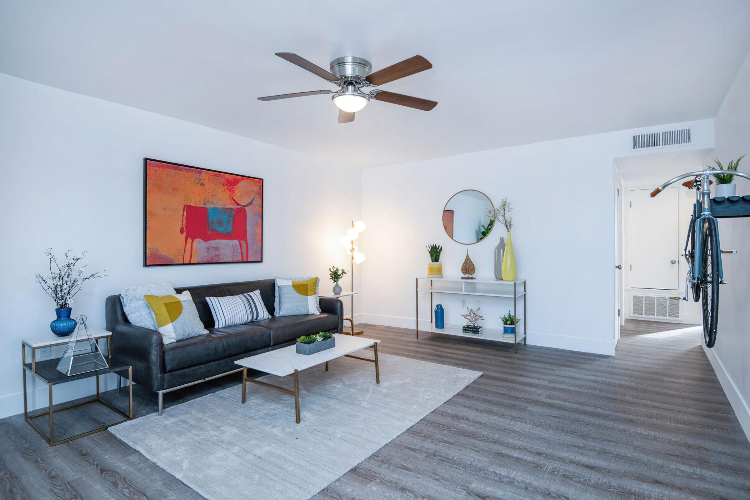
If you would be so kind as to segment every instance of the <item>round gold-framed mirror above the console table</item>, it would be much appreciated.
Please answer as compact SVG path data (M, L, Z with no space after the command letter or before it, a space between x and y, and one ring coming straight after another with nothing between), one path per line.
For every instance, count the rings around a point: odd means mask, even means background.
M459 191L443 208L443 229L456 243L478 243L492 231L494 220L487 214L492 208L492 200L481 191Z

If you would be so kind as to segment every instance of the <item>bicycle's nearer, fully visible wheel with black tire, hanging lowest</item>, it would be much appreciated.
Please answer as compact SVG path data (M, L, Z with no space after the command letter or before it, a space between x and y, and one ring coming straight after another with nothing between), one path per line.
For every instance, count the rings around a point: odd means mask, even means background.
M707 218L700 223L703 239L703 271L700 273L700 295L703 301L703 338L706 347L713 347L716 342L716 325L718 324L718 228L716 220Z

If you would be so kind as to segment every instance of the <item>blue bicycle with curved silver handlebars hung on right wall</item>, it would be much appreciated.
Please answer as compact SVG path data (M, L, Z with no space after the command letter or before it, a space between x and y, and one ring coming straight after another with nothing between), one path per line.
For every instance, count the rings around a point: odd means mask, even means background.
M685 256L688 262L688 276L685 280L685 301L688 293L692 294L694 301L702 300L703 303L703 337L706 347L713 347L716 342L716 325L718 324L718 286L724 282L724 271L721 269L721 253L735 253L732 250L721 250L718 240L718 223L711 214L711 193L709 185L713 184L711 175L739 175L750 181L750 176L742 172L727 170L700 170L688 172L664 182L651 192L653 198L661 193L667 186L681 181L684 178L693 177L690 181L682 183L688 189L695 190L695 205L688 238L685 241ZM690 292L688 292L690 289Z

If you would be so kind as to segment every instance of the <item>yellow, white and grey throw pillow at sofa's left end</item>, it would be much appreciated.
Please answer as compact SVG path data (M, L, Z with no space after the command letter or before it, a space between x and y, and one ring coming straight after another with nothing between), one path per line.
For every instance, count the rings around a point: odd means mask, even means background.
M154 313L156 327L161 333L161 340L165 344L178 340L207 334L198 316L190 292L179 295L143 295L148 307Z

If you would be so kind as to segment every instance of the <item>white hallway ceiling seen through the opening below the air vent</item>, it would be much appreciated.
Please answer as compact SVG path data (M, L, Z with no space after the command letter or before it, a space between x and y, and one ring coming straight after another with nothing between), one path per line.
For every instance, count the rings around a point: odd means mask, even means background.
M616 158L619 175L625 184L648 184L653 187L682 175L706 168L710 149L690 149L670 153L640 154Z

